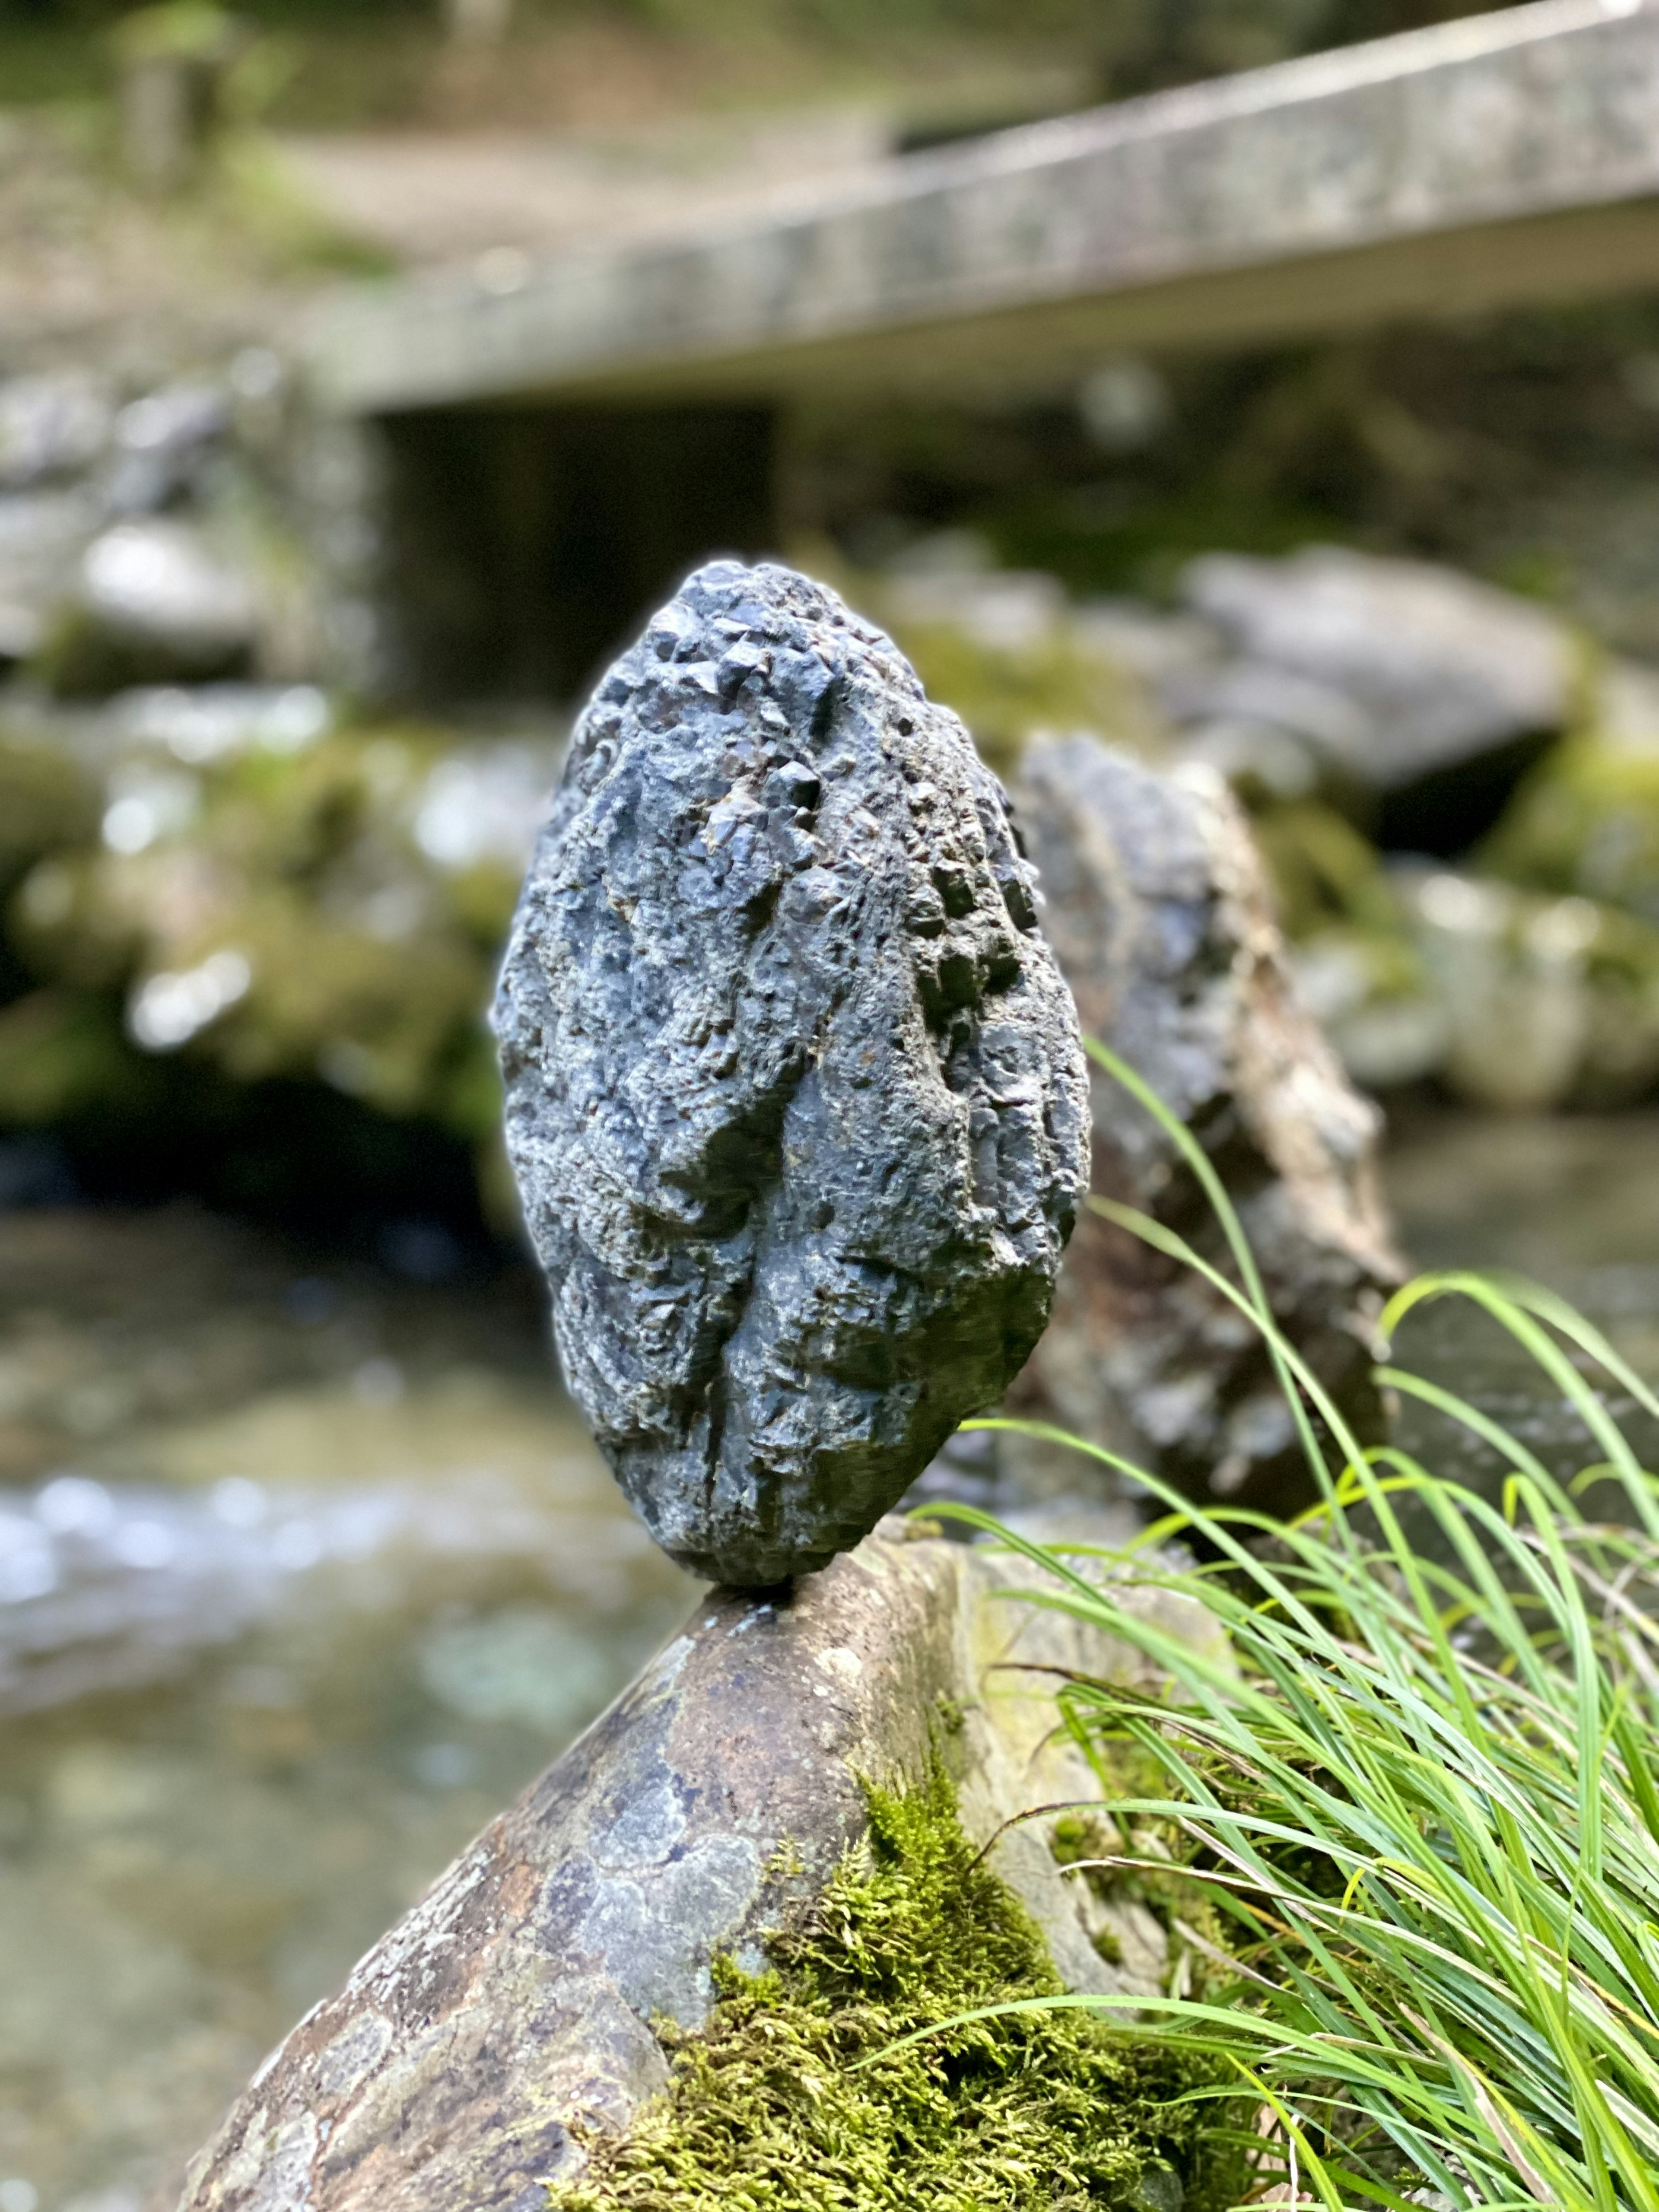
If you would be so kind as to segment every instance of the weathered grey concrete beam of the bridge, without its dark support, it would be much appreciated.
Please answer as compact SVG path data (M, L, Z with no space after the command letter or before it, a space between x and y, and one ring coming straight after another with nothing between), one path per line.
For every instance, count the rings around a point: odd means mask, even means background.
M504 296L469 276L363 290L321 316L310 365L352 411L971 394L1106 347L1657 281L1659 0L1540 0L894 161Z

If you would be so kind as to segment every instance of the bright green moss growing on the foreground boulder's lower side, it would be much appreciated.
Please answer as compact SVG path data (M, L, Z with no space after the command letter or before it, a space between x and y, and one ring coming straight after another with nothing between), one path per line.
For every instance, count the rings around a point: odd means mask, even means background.
M551 2212L1022 2212L1232 2203L1212 2075L1077 2011L902 2037L1060 1991L1042 1938L956 1818L942 1770L869 1792L869 1838L772 1966L721 1964L672 2084Z

